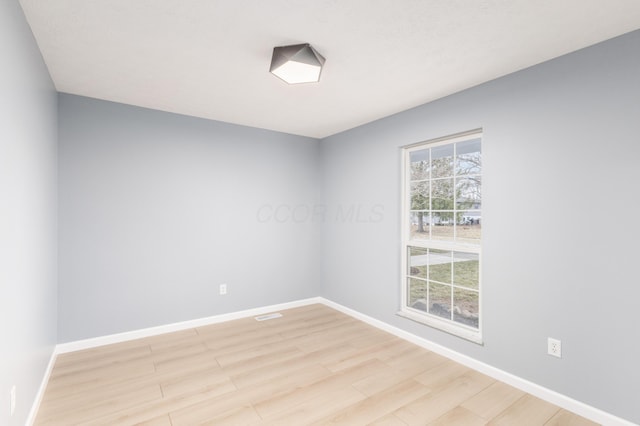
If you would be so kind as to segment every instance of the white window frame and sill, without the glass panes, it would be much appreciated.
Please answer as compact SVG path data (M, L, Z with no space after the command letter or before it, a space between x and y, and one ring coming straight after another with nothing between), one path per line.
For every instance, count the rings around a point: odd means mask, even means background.
M480 138L482 140L482 129L476 129L469 132L458 133L452 136L447 136L438 139L432 139L417 144L412 144L402 147L402 220L401 220L401 235L402 235L402 249L401 249L401 305L399 316L408 318L410 320L428 325L430 327L442 330L446 333L461 337L463 339L472 341L474 343L482 344L482 246L481 240L478 243L470 243L466 241L453 240L440 240L440 239L411 239L411 165L410 155L414 151L419 151L425 148L433 148L442 145L454 144L456 142L464 142L470 139ZM455 155L455 154L454 154ZM455 158L455 156L454 156ZM482 176L482 170L480 171ZM454 216L455 217L455 216ZM430 225L432 226L432 225ZM478 328L467 326L465 324L457 323L453 320L447 320L438 317L427 312L414 309L408 304L408 280L409 280L409 248L431 248L439 250L460 251L466 253L474 253L478 255ZM452 287L455 288L454 285Z

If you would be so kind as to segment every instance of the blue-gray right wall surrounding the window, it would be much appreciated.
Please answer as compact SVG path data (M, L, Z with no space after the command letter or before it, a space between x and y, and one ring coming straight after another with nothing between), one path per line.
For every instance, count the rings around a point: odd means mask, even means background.
M384 217L325 222L323 296L640 423L638 52L640 31L324 140L327 208ZM478 127L484 346L395 315L399 147Z

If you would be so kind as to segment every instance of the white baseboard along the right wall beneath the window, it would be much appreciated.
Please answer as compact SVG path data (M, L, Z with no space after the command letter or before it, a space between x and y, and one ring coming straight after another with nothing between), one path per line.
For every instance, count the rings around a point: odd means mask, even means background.
M324 298L320 298L320 299L321 299L320 303L323 303L324 305L327 305L337 311L343 312L356 319L366 322L369 325L379 328L380 330L391 333L397 337L400 337L401 339L407 340L411 343L414 343L418 346L421 346L439 355L447 357L466 367L479 371L480 373L486 374L487 376L493 377L494 379L499 380L501 382L507 383L508 385L511 385L533 396L536 396L540 399L550 402L551 404L557 405L558 407L561 407L568 411L576 413L591 421L600 423L605 426L637 426L635 423L631 423L627 420L621 419L620 417L616 417L613 414L607 413L605 411L602 411L595 407L587 405L583 402L569 398L568 396L562 395L558 392L552 391L551 389L547 389L543 386L537 385L533 382L530 382L521 377L515 376L506 371L500 370L499 368L485 364L484 362L480 362L467 355L463 355L459 352L453 351L437 343L433 343L427 339L418 337L415 334L411 334L400 328L394 327L390 324L387 324L386 322L377 320L368 315L355 311L351 308L347 308L346 306L332 302L331 300L327 300Z

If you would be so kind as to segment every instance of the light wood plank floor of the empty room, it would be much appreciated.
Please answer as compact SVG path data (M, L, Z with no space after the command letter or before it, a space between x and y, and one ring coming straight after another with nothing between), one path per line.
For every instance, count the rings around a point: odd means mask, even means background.
M593 425L324 305L60 355L36 425Z

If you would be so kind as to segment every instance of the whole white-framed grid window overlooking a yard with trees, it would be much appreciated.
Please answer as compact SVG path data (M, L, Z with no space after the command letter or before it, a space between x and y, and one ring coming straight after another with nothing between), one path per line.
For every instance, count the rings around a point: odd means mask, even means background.
M400 315L481 343L482 133L403 149Z

